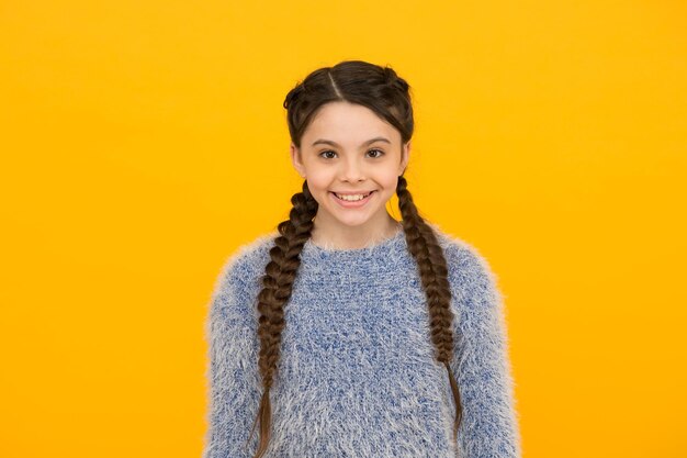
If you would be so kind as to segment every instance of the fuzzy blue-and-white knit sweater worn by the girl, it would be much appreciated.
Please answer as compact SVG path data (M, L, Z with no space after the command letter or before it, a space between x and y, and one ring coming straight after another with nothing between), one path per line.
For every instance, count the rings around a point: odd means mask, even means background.
M405 233L359 249L308 241L274 384L266 457L520 457L502 294L488 264L432 224L455 314L451 369L463 420L458 446L446 367L435 359L427 301ZM203 458L250 458L262 386L256 300L277 231L225 262L209 305L209 428Z

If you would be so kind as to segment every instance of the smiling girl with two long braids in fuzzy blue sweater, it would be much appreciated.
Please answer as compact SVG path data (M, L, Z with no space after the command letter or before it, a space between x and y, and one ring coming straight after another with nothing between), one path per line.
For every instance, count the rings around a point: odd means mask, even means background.
M216 281L203 457L519 457L496 278L403 176L408 83L342 62L283 105L303 192Z

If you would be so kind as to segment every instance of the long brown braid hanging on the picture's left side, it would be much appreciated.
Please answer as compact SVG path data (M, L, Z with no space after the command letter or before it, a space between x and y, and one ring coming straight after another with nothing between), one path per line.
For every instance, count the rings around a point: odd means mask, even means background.
M262 290L258 294L258 311L260 312L258 367L262 377L263 391L260 407L248 437L248 443L250 443L256 424L260 420L260 444L254 458L260 458L264 455L270 439L272 421L270 388L272 388L277 371L281 333L285 324L284 304L291 298L292 286L301 265L300 254L305 242L311 237L313 219L318 208L317 201L307 188L307 181L303 182L303 192L293 194L291 203L293 203L293 209L291 209L289 220L278 225L281 235L274 238L274 246L270 249L272 260L264 267Z

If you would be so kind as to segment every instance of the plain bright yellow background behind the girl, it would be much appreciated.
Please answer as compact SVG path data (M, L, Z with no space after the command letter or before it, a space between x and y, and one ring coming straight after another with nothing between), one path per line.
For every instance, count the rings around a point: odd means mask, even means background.
M211 289L300 190L285 93L349 58L409 81L409 189L499 278L523 456L684 457L686 18L2 2L0 457L200 456Z

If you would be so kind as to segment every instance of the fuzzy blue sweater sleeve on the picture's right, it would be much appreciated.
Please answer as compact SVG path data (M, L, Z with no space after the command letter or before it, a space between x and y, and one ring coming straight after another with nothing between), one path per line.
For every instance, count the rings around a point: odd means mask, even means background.
M450 262L449 277L457 304L451 369L463 406L460 457L519 458L508 333L496 277L473 247L461 249Z

